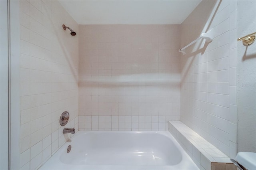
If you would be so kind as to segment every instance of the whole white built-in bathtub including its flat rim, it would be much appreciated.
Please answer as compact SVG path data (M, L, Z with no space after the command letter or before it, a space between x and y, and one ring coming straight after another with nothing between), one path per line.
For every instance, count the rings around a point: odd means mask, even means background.
M68 146L72 148L67 153ZM198 170L169 132L78 131L40 170Z

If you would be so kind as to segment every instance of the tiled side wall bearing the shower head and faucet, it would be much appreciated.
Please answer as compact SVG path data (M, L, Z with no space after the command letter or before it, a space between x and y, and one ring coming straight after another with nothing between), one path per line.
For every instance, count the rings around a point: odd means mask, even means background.
M78 24L58 1L20 1L20 168L39 168L78 129Z

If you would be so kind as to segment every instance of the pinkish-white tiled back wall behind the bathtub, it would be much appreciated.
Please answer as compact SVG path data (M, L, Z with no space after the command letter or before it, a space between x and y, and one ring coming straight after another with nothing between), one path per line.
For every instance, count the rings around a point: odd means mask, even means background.
M180 25L79 25L79 129L180 120Z

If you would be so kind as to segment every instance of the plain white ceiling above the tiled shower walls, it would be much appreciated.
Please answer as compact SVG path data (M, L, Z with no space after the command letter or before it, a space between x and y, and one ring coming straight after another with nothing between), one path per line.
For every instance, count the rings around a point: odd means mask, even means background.
M78 24L181 24L201 0L60 0Z

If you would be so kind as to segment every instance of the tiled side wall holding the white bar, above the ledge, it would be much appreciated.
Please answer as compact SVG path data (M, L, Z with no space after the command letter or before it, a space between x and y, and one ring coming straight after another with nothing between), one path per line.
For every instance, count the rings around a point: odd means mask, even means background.
M230 157L236 155L236 1L202 1L181 25L181 121Z

